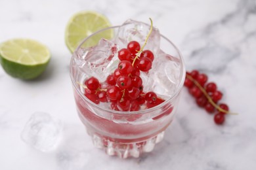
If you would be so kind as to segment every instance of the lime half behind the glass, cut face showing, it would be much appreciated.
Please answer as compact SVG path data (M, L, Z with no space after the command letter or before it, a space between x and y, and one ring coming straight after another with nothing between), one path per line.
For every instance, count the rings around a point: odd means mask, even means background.
M74 52L77 46L89 35L100 29L110 27L111 24L106 16L93 11L83 11L75 14L66 26L65 41L70 52ZM107 30L94 36L83 47L95 46L101 38L111 39L113 31Z

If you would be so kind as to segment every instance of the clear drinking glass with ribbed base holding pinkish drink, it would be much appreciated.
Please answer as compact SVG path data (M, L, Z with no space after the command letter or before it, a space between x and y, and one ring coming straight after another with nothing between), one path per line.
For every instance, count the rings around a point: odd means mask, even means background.
M166 37L160 35L161 50L169 54L171 59L176 60L180 65L179 84L177 84L177 88L171 97L165 99L165 102L156 107L133 112L106 109L87 99L83 95L81 86L77 83L83 82L87 76L78 67L77 56L86 54L89 50L87 43L92 42L92 39L100 40L100 37L104 35L104 31L108 31L108 33L112 31L115 38L118 30L127 25L108 27L87 37L72 56L70 76L79 118L85 125L87 133L91 136L93 144L97 148L102 148L106 154L111 156L138 158L143 152L151 152L155 144L163 139L165 129L171 124L175 116L179 93L181 92L186 72L184 61L177 47Z

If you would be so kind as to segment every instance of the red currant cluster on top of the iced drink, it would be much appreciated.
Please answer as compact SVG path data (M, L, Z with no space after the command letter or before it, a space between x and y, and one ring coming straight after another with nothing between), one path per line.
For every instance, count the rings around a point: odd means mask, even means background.
M85 96L96 104L111 103L114 110L137 111L142 105L145 109L159 105L164 100L154 92L143 92L140 71L148 72L152 67L154 54L143 50L137 41L131 41L127 48L118 51L119 64L117 69L103 82L91 77L85 80Z

